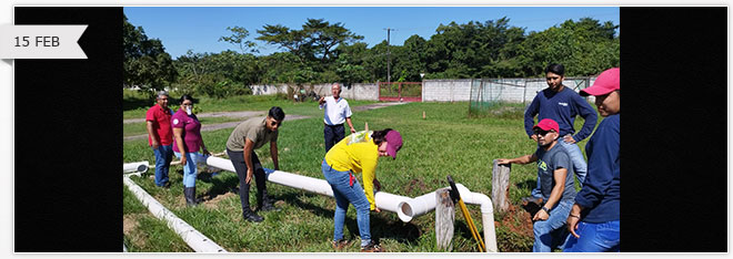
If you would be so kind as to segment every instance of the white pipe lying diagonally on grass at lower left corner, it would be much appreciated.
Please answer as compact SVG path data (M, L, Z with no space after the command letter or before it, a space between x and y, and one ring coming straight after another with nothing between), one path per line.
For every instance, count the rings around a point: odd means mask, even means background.
M155 198L150 196L144 189L138 186L130 177L122 176L124 185L134 194L135 197L147 206L150 213L159 219L165 220L168 227L173 229L175 234L183 238L183 241L189 245L197 252L227 252L224 248L220 247L207 236L195 230L191 225L187 224L173 213L168 210L163 205L158 203Z

